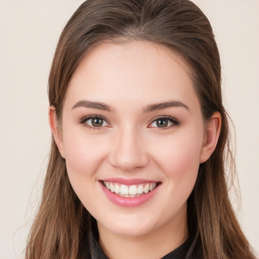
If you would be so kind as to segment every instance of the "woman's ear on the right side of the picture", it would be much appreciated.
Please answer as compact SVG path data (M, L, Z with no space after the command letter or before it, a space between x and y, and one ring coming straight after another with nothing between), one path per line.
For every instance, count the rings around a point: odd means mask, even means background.
M215 150L221 131L221 114L215 111L206 125L206 132L200 153L200 163L204 163Z

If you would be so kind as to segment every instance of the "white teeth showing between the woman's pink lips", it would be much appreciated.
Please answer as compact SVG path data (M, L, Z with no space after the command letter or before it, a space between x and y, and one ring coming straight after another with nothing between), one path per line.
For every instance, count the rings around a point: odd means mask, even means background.
M126 198L135 198L151 192L159 183L145 183L139 185L123 185L119 183L102 181L109 191Z

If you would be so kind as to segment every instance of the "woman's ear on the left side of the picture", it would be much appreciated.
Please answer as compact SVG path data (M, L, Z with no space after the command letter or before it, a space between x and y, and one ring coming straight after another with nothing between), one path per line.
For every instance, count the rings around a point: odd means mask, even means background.
M50 123L52 135L53 135L56 145L59 149L59 152L60 152L61 156L63 158L65 158L63 139L61 136L61 132L58 128L56 108L54 106L50 106L50 108L49 108L49 123Z

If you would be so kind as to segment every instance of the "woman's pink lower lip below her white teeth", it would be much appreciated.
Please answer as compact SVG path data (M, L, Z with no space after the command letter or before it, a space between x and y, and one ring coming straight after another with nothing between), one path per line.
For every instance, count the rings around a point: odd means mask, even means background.
M133 207L138 207L141 206L142 204L146 203L149 201L157 192L158 188L160 185L158 185L155 189L148 193L143 193L142 195L138 197L133 197L133 198L127 198L127 197L122 197L119 196L111 191L109 191L102 182L100 182L101 188L106 195L106 197L114 204L120 206L120 207L128 207L128 208L133 208Z

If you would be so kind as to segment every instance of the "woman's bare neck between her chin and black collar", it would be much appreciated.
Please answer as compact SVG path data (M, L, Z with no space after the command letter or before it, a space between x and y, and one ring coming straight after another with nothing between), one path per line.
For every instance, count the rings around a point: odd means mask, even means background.
M175 218L142 236L117 235L98 223L100 246L110 259L161 258L188 237L187 205L181 210Z

